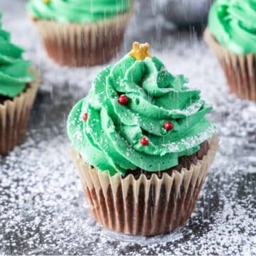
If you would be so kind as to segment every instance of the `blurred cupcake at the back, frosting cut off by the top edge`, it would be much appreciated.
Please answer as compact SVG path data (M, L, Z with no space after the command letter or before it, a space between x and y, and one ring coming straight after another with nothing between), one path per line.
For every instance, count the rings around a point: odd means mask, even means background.
M132 0L30 0L28 14L59 65L107 63L118 52Z

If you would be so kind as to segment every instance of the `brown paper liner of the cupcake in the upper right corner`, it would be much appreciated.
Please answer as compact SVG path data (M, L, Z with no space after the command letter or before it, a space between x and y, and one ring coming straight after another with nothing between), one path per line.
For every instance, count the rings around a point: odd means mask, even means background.
M256 101L256 54L230 52L215 40L208 28L204 39L222 65L231 92L243 100Z

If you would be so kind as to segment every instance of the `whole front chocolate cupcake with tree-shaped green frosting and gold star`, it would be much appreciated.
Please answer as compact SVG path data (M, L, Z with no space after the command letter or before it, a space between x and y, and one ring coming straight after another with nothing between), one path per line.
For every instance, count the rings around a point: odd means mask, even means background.
M72 156L95 220L159 235L188 220L215 156L211 107L148 53L132 51L95 78L68 117Z

